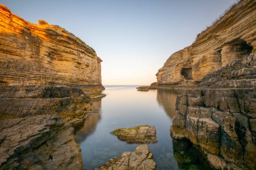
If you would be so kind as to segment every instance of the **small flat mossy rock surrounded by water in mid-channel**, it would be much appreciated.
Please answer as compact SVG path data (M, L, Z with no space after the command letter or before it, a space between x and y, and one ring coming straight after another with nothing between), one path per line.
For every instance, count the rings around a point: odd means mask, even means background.
M119 128L111 132L119 140L127 143L156 143L156 128L154 126L142 125L134 128Z

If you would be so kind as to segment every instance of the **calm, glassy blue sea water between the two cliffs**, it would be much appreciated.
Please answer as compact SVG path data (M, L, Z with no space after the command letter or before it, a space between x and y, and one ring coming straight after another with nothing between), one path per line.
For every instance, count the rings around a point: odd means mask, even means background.
M106 97L94 101L100 114L90 116L75 133L82 148L85 169L94 169L113 157L120 157L125 151L134 151L137 144L127 144L110 132L144 124L156 127L158 142L148 146L154 154L157 169L181 169L184 151L179 151L182 160L177 157L177 161L170 125L177 95L183 91L137 91L135 86L106 86L104 93Z

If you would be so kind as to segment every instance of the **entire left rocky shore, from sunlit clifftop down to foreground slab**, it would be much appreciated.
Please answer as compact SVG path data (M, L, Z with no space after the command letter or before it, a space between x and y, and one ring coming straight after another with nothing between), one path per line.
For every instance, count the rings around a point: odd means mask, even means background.
M0 17L0 169L83 169L72 126L98 112L102 60L64 28Z

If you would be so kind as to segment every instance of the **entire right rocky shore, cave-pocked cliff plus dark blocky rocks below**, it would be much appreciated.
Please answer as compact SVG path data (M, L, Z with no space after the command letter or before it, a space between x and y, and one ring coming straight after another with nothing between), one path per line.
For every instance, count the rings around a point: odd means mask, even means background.
M256 168L255 18L256 2L239 1L172 54L150 86L185 91L170 134L199 148L212 169Z

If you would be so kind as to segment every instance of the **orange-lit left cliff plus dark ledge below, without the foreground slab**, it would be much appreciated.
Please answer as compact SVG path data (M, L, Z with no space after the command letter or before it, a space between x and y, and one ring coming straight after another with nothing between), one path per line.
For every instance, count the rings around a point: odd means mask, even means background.
M0 5L0 120L58 114L73 125L102 96L100 58L73 34Z

